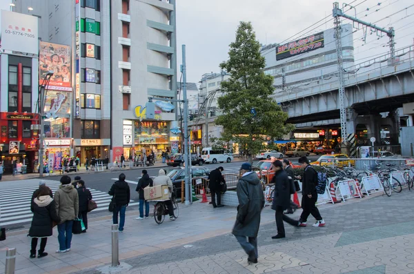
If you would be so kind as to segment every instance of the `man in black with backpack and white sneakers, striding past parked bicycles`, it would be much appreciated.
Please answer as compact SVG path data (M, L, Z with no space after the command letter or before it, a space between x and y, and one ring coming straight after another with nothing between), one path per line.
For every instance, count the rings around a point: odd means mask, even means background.
M302 215L300 215L299 226L306 226L306 221L310 214L316 219L316 223L313 226L325 226L325 221L322 219L319 210L316 207L317 202L317 172L309 164L309 160L306 156L299 158L299 164L305 168L304 177L302 178Z

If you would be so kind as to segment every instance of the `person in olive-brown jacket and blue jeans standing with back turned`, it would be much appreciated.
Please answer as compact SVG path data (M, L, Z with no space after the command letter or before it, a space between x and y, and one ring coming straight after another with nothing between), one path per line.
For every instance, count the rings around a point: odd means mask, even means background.
M72 242L73 220L79 213L79 197L77 190L70 184L68 175L63 175L60 182L55 193L56 212L60 219L57 225L59 249L56 253L66 253L70 251Z

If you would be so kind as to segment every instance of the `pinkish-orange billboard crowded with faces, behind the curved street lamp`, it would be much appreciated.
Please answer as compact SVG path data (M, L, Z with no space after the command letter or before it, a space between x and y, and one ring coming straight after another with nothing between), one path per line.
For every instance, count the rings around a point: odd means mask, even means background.
M52 70L53 76L50 77L49 89L71 91L70 58L70 46L41 41L39 52L39 83L41 84L48 72Z

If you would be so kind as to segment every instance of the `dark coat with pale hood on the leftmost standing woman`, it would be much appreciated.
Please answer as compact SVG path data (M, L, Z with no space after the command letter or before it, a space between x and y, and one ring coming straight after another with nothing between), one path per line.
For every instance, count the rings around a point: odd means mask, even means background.
M30 237L52 236L52 221L59 223L55 201L49 196L40 196L32 200L32 225L29 229Z

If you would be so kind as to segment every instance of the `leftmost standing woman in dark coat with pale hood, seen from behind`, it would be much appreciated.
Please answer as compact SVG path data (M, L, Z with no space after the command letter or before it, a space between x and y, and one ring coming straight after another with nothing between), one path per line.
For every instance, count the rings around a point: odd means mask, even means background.
M38 238L41 238L41 242L37 257L45 257L48 255L48 253L44 252L46 243L48 242L48 237L52 236L52 222L59 223L55 201L50 197L49 188L46 186L39 187L37 197L32 200L31 210L33 212L33 219L29 230L29 236L32 237L30 258L36 257Z

